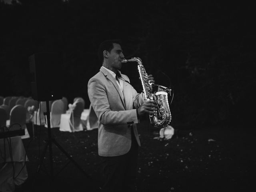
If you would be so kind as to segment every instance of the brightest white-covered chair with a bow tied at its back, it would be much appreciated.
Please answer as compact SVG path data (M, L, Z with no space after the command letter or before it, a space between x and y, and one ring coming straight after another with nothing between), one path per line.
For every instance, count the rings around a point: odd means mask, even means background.
M84 102L74 102L74 110L70 114L62 114L60 120L60 131L76 132L82 131L81 114L84 111Z

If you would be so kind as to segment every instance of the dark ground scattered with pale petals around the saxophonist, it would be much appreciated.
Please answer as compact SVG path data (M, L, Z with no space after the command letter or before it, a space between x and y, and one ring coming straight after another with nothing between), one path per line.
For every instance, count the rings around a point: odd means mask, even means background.
M30 125L28 129L31 132ZM142 143L136 181L138 192L245 192L254 188L255 131L230 125L174 126L174 130L173 137L164 140L158 138L159 131L153 130L147 120L138 125ZM69 162L53 144L53 178L49 174L48 150L40 171L36 172L38 156L42 154L48 134L44 127L36 127L35 132L36 138L23 140L29 158L28 180L16 188L17 192L100 191L92 187L93 183L102 184L97 129L70 133L52 128L57 143L84 170Z

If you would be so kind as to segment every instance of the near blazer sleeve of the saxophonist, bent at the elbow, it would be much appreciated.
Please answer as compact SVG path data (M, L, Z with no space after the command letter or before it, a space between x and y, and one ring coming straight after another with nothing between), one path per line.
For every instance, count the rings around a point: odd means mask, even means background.
M136 90L135 90L136 92ZM137 100L140 94L136 92L133 96ZM103 125L138 123L136 109L132 110L110 110L110 104L104 83L98 78L91 78L88 82L88 96L92 107Z

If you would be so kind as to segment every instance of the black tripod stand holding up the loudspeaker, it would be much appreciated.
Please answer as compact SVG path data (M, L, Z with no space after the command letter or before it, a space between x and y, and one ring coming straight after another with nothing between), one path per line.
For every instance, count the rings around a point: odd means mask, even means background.
M50 109L49 109L49 100L46 101L46 119L47 119L47 130L48 130L48 139L46 140L46 145L44 146L44 149L42 151L40 160L39 160L39 165L37 168L37 173L40 171L43 161L44 161L44 157L46 156L46 151L47 148L49 147L49 160L50 160L50 179L52 180L54 178L53 175L53 159L52 159L52 144L55 144L58 149L64 153L66 155L66 157L84 174L84 176L86 176L86 178L88 179L88 181L93 184L93 186L95 188L99 188L96 187L96 184L94 182L94 180L92 180L92 178L74 161L74 159L62 148L62 146L60 146L60 144L58 144L58 142L52 137L51 134L51 125L50 125Z

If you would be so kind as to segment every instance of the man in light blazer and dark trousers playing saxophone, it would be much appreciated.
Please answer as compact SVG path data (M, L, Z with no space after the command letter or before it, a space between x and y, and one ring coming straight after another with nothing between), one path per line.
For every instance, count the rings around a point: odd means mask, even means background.
M143 114L153 114L157 105L145 102L120 73L124 54L119 40L106 40L98 49L100 72L88 82L88 96L99 119L98 154L102 160L103 191L136 191L138 146L136 124ZM148 80L155 83L152 75Z

